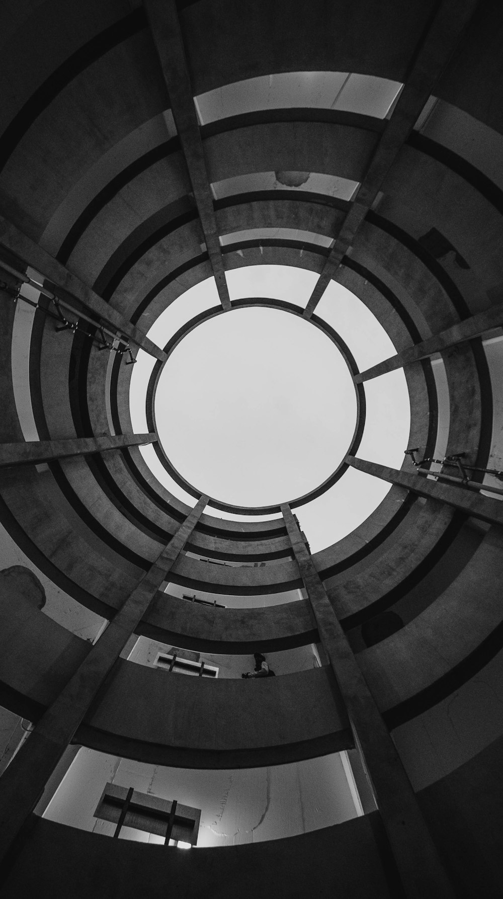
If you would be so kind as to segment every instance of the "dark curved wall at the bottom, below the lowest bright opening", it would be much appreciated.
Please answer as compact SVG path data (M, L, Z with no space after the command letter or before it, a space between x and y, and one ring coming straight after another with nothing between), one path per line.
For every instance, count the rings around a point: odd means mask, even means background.
M331 899L336 890L362 899L391 899L385 862L383 865L375 848L374 822L362 817L290 840L201 848L192 850L186 859L187 852L172 853L163 846L131 841L110 842L107 837L42 819L3 893L5 899L19 895L21 877L23 888L36 890L43 883L57 899L68 891L80 899L97 890L133 899L145 890L157 892L167 882L173 890L190 896L204 893L212 899L216 895L231 899L239 894L252 899L259 870L260 890L268 899L282 893L301 899L310 890L320 899ZM148 861L146 853L154 853ZM50 867L44 859L50 859ZM80 871L76 884L75 867ZM57 871L57 879L51 876L51 869Z

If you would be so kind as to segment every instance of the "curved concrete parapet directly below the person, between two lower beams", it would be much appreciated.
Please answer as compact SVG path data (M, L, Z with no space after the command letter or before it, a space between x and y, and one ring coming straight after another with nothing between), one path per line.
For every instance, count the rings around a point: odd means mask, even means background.
M352 746L329 668L262 680L182 677L120 660L75 739L195 768L298 761Z

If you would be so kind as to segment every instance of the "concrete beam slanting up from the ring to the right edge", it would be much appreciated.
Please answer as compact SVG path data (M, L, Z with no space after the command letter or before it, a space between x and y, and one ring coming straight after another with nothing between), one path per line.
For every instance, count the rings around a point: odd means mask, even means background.
M385 375L388 371L402 369L404 365L427 359L434 352L442 352L450 346L455 346L456 343L465 343L474 337L480 337L481 334L487 334L495 328L500 328L501 325L503 325L503 303L490 307L490 309L485 309L484 312L479 312L478 315L472 316L472 318L466 318L463 322L441 331L440 334L434 334L433 337L428 337L427 340L416 343L415 346L410 346L407 350L402 350L396 356L390 356L384 362L379 362L371 369L360 372L359 375L355 376L355 382L362 384L364 381L371 380L371 378Z

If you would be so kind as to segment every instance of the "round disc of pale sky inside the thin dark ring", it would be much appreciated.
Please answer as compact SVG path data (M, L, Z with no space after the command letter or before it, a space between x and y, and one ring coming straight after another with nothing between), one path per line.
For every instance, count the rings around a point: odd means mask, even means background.
M337 347L299 316L233 309L172 352L154 397L159 440L191 485L224 502L285 502L348 452L357 398Z

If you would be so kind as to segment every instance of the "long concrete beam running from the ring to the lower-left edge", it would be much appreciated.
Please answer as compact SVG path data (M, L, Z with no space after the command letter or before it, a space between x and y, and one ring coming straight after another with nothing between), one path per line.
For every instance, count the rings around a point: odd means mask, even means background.
M207 500L201 496L0 778L0 861L37 805L46 781L190 538Z

